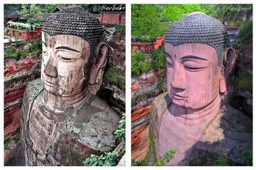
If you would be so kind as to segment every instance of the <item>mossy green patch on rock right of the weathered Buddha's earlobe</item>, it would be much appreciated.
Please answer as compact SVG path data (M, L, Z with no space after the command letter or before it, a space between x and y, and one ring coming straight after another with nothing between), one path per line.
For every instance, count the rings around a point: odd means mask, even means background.
M109 68L105 71L104 80L115 83L118 87L125 89L125 72L119 68Z

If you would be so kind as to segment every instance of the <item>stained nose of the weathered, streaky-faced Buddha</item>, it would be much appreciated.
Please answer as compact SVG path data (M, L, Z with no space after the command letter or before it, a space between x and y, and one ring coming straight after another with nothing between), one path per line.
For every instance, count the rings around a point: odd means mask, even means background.
M47 64L45 66L44 73L45 75L51 76L51 77L58 77L57 72L57 58L53 56L53 54L49 54L49 60L47 61Z

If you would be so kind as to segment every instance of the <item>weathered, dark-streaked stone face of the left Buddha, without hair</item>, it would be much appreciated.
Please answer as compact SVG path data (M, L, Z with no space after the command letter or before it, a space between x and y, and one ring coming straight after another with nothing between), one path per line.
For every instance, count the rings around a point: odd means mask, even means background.
M73 35L49 36L42 32L41 79L44 88L57 96L78 95L90 78L88 41Z

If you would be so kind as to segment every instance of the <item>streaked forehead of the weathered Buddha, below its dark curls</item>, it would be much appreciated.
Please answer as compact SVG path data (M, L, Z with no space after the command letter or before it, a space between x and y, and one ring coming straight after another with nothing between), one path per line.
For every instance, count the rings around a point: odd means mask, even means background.
M88 41L75 35L54 35L50 36L48 33L42 32L42 41L50 47L50 45L72 47L77 51L82 51L84 48L90 48Z

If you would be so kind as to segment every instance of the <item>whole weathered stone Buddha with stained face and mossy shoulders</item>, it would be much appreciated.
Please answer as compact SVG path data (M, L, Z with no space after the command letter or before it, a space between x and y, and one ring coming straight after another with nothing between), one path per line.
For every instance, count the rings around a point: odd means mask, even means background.
M107 62L102 35L80 7L43 17L41 79L28 84L22 105L27 165L82 165L113 150L120 116L95 95Z

